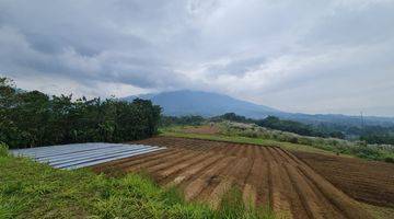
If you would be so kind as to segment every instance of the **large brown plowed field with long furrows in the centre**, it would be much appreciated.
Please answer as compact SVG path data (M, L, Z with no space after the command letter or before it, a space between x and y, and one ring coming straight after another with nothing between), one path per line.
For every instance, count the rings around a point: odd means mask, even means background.
M360 205L293 154L276 147L158 137L140 143L167 150L95 166L96 172L149 172L177 185L187 200L217 207L232 186L245 203L270 205L289 218L370 218Z

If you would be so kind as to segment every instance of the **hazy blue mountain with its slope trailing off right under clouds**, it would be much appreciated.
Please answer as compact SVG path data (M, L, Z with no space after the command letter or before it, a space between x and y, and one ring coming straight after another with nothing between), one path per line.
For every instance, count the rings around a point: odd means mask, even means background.
M123 101L132 101L136 97L151 100L154 104L163 107L164 115L184 116L200 115L205 117L218 116L224 113L235 113L250 118L265 118L268 115L280 118L298 120L308 124L332 123L338 125L360 126L359 116L347 116L340 114L300 114L287 113L265 105L258 105L241 101L228 95L202 92L202 91L172 91L162 93L150 93L138 96L123 97ZM366 125L394 125L393 117L367 116L363 118Z

